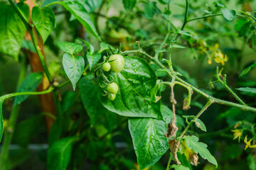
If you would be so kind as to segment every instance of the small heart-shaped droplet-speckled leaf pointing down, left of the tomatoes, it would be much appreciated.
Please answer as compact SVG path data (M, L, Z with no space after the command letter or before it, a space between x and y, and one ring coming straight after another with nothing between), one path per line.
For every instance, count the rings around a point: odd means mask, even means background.
M75 86L81 78L82 71L85 68L85 60L82 56L74 57L73 55L65 53L63 55L63 67L75 91Z

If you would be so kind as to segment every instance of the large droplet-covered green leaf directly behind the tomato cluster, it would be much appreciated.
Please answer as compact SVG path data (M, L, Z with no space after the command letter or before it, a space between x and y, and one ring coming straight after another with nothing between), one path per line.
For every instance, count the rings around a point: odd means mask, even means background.
M161 118L160 102L151 101L150 91L156 85L156 74L149 64L138 57L124 57L124 69L111 73L119 86L117 97L110 101L102 96L98 85L98 98L105 108L129 117ZM101 80L98 84L101 83Z

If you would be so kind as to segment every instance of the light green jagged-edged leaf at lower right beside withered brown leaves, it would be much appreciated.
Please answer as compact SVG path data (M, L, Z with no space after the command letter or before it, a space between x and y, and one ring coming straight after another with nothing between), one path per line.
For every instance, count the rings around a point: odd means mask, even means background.
M203 159L207 159L208 162L214 164L215 166L218 166L216 159L208 151L207 145L204 144L203 142L198 142L198 137L184 136L183 139L185 140L186 145L188 146L189 149L193 149L193 151L196 152L196 154L199 153Z

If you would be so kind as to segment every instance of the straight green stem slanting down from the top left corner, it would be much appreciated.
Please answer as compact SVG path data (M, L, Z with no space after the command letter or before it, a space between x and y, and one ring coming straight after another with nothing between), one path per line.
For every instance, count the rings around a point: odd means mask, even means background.
M14 10L16 11L16 13L18 14L19 18L21 18L21 21L24 23L24 25L26 26L26 29L28 30L28 33L31 35L31 40L33 42L33 46L36 49L36 53L39 57L39 60L42 64L43 70L46 72L46 77L48 78L48 80L50 81L50 84L53 83L53 77L50 76L50 72L46 66L46 62L43 59L43 54L42 52L38 49L38 42L35 38L35 35L33 34L33 30L30 28L30 26L28 25L26 19L22 16L21 12L18 11L18 8L16 6L16 4L14 4L14 1L9 0L9 2L11 3L11 6L13 6Z

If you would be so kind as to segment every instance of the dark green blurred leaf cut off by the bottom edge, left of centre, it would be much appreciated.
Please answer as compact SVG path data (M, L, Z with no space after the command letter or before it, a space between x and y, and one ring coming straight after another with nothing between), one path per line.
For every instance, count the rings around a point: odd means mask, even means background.
M67 169L70 162L74 137L65 137L50 146L47 155L48 170Z

